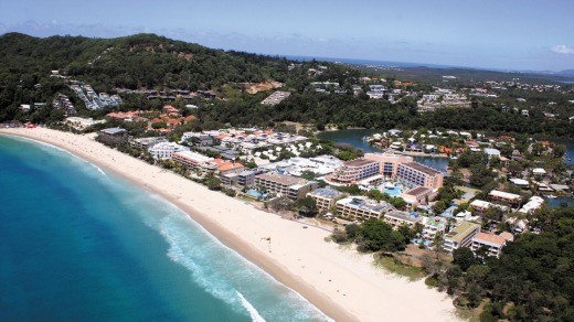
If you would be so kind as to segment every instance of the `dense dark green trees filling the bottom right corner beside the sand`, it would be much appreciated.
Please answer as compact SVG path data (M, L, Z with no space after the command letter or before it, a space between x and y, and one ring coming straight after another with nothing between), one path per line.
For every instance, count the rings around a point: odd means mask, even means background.
M457 249L453 264L427 269L428 282L455 296L460 308L488 300L483 321L568 321L574 313L574 208L544 208L533 221L542 233L518 235L500 258L485 249L477 255Z

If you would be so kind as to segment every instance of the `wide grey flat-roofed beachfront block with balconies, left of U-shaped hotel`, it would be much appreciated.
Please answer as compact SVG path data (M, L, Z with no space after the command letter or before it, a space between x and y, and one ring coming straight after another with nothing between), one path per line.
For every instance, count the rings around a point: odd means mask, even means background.
M255 176L255 185L265 187L267 192L297 200L305 197L309 191L317 189L318 183L279 173L264 173Z

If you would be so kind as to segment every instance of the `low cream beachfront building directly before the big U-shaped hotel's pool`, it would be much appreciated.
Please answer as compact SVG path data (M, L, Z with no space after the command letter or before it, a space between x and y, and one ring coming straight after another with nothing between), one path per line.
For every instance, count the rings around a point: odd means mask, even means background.
M394 210L387 202L378 203L358 196L349 196L337 202L337 212L339 214L362 221L381 218L384 214Z

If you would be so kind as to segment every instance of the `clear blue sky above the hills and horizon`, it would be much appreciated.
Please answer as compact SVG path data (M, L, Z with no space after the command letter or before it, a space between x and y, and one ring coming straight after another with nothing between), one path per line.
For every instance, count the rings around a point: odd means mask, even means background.
M0 0L0 34L156 33L269 55L574 69L572 0Z

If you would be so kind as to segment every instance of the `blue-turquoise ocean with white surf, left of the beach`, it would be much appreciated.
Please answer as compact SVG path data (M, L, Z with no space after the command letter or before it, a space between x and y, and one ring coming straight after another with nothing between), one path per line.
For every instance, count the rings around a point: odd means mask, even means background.
M326 321L174 205L0 136L1 321Z

